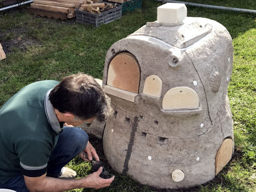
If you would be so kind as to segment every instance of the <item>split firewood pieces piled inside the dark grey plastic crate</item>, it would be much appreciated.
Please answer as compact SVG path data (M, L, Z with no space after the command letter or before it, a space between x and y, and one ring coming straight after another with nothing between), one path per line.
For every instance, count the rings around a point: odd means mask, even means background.
M86 1L87 4L81 5L79 7L80 11L86 11L93 14L101 14L101 12L108 11L117 7L117 3L114 5L112 3L93 3L92 1Z

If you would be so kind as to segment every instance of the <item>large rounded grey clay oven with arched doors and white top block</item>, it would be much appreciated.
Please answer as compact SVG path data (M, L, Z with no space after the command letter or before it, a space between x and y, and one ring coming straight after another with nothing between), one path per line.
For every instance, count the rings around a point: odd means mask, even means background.
M102 83L114 108L103 137L112 168L161 188L212 180L233 153L232 65L226 28L187 17L180 3L114 43Z

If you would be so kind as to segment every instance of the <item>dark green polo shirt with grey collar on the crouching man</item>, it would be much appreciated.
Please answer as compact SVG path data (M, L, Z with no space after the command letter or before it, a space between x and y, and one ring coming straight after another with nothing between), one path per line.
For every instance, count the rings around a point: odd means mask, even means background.
M47 94L58 83L27 85L0 109L0 182L20 174L39 177L46 173L60 130Z

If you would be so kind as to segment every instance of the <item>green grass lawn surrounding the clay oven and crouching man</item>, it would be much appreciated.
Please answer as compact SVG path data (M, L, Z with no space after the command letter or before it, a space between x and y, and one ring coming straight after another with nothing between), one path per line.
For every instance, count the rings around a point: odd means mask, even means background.
M195 0L207 3L256 9L256 1ZM0 43L7 59L0 61L0 106L23 86L40 80L61 80L84 72L102 78L109 47L156 20L160 2L144 0L141 10L126 13L121 19L98 28L28 14L26 9L0 12ZM108 188L98 191L256 191L255 114L256 114L256 20L255 14L187 6L188 16L216 20L233 38L234 65L228 95L234 120L235 151L232 160L214 180L201 186L179 190L160 190L141 185L110 168L104 158L102 140L91 136L106 169L115 174ZM90 164L76 158L69 163L79 177L90 173ZM152 178L154 180L154 178ZM77 189L73 191L94 191Z

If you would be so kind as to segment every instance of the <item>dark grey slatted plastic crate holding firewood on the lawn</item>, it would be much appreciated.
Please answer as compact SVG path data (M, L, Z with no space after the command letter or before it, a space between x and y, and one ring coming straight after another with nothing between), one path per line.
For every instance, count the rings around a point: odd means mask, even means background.
M97 3L103 3L104 1L100 1ZM104 3L112 3L112 2L104 2ZM112 3L113 5L115 3ZM94 24L95 27L99 27L102 24L113 22L122 17L122 5L117 3L117 7L114 9L110 9L108 11L102 12L101 14L93 14L86 11L80 11L76 9L76 22L83 24Z

